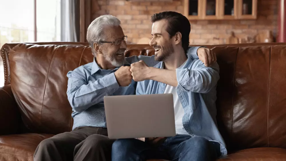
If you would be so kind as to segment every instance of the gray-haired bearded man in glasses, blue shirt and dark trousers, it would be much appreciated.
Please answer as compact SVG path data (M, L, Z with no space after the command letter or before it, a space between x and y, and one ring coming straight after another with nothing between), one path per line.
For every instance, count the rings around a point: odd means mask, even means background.
M125 58L127 36L120 20L112 15L96 18L88 27L87 40L94 61L67 73L67 96L72 106L73 130L43 140L37 147L35 161L111 160L114 140L107 136L104 96L134 95L130 64L144 60L148 66L158 64L153 57ZM191 47L190 56L214 62L209 49Z

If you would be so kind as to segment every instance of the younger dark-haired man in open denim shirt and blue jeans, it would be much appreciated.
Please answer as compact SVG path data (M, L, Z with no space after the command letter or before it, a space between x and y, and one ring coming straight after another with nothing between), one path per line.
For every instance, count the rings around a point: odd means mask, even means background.
M217 128L217 63L210 67L188 54L190 22L180 13L168 11L151 17L155 60L131 64L136 94L172 93L176 136L168 138L120 139L113 143L113 161L165 159L208 161L226 155L225 142ZM139 82L140 81L140 82ZM151 111L152 112L152 111Z

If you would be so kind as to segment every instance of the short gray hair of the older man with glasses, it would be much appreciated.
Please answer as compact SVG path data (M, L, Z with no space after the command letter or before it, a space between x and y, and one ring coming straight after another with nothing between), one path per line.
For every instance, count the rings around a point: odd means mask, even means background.
M94 19L92 23L88 26L88 31L86 39L88 44L92 49L92 54L96 56L93 44L95 42L105 41L106 37L104 35L105 26L119 26L121 24L120 20L112 15L101 15Z

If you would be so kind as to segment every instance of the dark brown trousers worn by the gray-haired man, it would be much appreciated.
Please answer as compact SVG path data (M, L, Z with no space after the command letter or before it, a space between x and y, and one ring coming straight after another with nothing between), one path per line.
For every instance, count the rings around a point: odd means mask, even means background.
M34 154L34 161L110 161L112 143L107 129L77 127L43 140Z

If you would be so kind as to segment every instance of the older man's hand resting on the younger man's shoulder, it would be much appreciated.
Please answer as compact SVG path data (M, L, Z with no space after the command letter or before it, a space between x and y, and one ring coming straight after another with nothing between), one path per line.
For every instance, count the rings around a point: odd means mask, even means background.
M217 61L215 53L208 48L198 48L198 58L204 63L205 66L211 66Z

